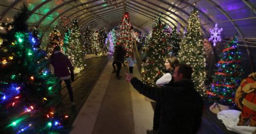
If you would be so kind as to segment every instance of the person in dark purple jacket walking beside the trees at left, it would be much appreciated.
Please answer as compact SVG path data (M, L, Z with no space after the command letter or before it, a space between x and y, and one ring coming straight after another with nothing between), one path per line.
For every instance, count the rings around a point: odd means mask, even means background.
M60 78L59 85L61 86L62 80L65 81L68 94L70 97L71 104L74 106L74 97L73 97L73 91L71 88L71 81L74 81L74 68L71 64L70 60L66 55L61 53L60 46L56 46L53 49L53 53L50 56L51 64L54 68L54 74L55 76Z

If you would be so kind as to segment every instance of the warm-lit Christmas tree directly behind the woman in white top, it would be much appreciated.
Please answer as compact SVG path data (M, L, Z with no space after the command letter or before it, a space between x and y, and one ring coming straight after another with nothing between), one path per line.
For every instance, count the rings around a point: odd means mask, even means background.
M166 34L164 30L167 28L162 24L161 20L158 19L156 26L153 28L152 37L150 38L148 50L147 50L147 60L146 65L142 68L142 78L141 80L147 85L155 86L155 82L164 73L164 61L165 56L168 55L166 49L167 41Z

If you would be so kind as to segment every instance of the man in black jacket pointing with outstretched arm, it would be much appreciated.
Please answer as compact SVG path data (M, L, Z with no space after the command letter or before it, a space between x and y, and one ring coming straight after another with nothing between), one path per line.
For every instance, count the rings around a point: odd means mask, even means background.
M161 102L158 133L196 133L203 113L203 99L191 80L192 68L186 64L175 67L174 83L166 87L150 87L126 73L126 80L150 99Z

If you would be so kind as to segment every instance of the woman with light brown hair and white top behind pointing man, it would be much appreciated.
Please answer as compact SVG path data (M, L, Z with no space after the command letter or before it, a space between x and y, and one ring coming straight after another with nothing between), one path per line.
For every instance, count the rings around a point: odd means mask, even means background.
M157 86L168 86L174 79L172 77L174 73L175 66L179 64L179 60L175 56L170 56L165 58L165 74L156 81ZM154 112L154 122L153 122L153 130L148 130L147 133L157 133L159 129L159 122L160 122L160 108L161 104L156 102L155 112Z

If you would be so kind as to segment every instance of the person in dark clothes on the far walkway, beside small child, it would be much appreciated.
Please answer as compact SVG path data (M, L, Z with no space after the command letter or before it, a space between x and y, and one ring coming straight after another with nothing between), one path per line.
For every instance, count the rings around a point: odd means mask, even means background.
M118 46L118 48L115 51L115 56L114 56L114 62L117 66L117 71L116 71L116 78L120 79L120 70L122 68L122 63L124 62L124 56L126 55L124 48L122 47L122 43Z

